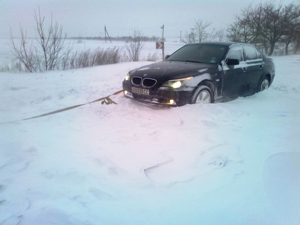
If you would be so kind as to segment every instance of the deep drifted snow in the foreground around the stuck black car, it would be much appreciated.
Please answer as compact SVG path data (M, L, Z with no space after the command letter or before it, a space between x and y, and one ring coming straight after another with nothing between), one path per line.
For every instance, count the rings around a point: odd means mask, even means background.
M0 224L299 224L300 55L262 93L160 108L122 94L0 125ZM0 123L93 101L150 62L0 73Z

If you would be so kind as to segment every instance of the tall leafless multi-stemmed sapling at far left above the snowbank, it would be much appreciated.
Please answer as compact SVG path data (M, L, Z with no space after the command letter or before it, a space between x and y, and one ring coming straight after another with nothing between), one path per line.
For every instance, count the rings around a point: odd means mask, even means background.
M73 49L73 45L65 44L66 34L63 36L63 27L58 22L53 24L52 13L51 23L45 30L44 20L41 17L40 9L38 15L34 11L34 19L36 22L36 41L28 44L26 31L20 25L21 37L19 42L15 42L10 35L10 46L13 54L19 62L25 67L25 71L36 72L45 70L54 70L59 68L60 63L66 62Z

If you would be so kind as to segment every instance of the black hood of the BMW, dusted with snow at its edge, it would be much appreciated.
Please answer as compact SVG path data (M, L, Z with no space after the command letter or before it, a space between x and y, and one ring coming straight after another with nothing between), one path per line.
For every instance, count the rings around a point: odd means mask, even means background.
M129 71L129 74L131 77L136 76L167 81L209 73L216 70L216 68L216 64L162 61Z

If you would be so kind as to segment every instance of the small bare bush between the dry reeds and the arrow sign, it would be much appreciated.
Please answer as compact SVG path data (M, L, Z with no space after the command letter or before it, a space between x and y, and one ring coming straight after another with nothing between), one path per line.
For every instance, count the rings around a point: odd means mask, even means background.
M142 49L144 48L146 42L143 41L143 32L142 30L133 29L132 37L129 39L129 42L125 44L125 49L127 57L130 61L136 62L140 58Z

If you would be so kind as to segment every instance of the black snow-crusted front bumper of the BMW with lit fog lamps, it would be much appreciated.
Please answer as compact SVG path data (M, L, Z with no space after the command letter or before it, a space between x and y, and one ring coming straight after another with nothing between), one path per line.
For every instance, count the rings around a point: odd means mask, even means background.
M127 91L124 97L131 98L135 101L146 103L150 105L166 106L166 107L176 107L183 106L191 102L193 88L182 87L182 88L143 88L149 90L149 95L135 94L132 93L133 85L129 81L123 81L123 90ZM173 103L170 100L173 99Z

